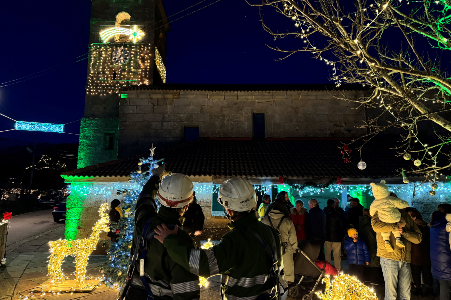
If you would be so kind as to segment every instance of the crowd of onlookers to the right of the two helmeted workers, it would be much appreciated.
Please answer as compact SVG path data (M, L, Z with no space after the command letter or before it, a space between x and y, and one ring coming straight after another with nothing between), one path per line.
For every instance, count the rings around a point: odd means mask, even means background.
M427 223L417 209L408 207L406 201L388 191L385 182L373 185L373 195L373 215L358 198L349 195L345 209L340 207L338 198L327 200L324 209L320 209L316 199L309 200L309 209L304 208L301 200L289 208L285 191L272 204L264 201L258 213L262 222L280 234L285 279L289 283L294 280L290 256L296 252L295 241L308 239L321 244L319 260L343 271L341 260L347 259L346 273L365 284L385 285L386 300L395 300L398 291L400 299L410 299L411 293L419 296L439 293L440 300L449 300L451 204L438 205ZM384 222L382 215L395 220ZM433 278L439 286L435 290Z

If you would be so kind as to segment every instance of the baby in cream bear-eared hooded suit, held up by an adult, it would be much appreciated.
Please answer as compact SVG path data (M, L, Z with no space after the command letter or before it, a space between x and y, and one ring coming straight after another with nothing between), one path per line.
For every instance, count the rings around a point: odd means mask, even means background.
M401 219L401 213L398 209L409 207L409 203L396 197L390 196L388 186L385 185L385 180L380 183L371 183L373 187L373 196L375 200L370 206L370 214L374 215L376 212L379 219L384 223L397 223ZM393 233L396 238L396 245L400 248L405 248L401 240L401 233L399 231L381 232L382 239L385 242L387 252L393 252L393 247L390 244L390 234Z

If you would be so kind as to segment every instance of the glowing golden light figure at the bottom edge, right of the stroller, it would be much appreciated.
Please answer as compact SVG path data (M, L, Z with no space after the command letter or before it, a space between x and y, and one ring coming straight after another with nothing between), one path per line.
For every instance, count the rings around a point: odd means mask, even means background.
M326 276L323 281L326 282L324 294L316 294L321 300L377 300L377 296L372 289L349 275L337 276L330 289L330 279Z

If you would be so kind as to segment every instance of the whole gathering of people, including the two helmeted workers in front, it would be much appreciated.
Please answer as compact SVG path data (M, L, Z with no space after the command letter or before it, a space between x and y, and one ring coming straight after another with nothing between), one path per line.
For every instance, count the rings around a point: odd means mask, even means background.
M284 299L287 282L295 281L298 241L306 239L321 247L318 260L333 262L365 284L385 285L385 300L409 300L412 281L414 294L439 292L440 300L449 300L451 204L438 205L426 223L382 180L372 183L370 209L350 196L345 209L338 198L327 200L324 209L310 199L307 209L301 200L292 205L285 191L272 202L264 195L257 206L254 187L232 178L221 185L218 197L231 231L211 249L201 249L195 239L205 218L193 189L185 175L154 171L136 204L130 279L119 299L197 299L199 276L217 274L222 275L224 299ZM120 201L114 200L111 208L110 220L117 221ZM342 270L341 259L347 259L348 270Z

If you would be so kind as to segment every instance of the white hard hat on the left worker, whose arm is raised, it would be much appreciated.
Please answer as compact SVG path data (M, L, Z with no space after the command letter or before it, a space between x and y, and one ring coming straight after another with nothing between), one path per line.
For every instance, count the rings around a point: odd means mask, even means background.
M192 202L193 191L194 185L188 176L175 173L163 178L157 199L165 207L180 208Z

